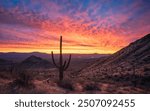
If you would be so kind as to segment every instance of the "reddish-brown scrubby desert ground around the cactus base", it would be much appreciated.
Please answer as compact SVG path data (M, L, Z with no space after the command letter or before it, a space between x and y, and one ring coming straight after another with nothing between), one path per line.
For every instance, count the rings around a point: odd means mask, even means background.
M101 59L104 59L102 57ZM99 59L98 59L99 60ZM56 68L6 69L0 72L0 93L6 94L113 94L113 93L150 93L149 78L134 76L130 67L122 66L91 70L97 59L76 59L64 73L62 82L58 79ZM89 67L90 66L90 67ZM19 66L16 66L18 68ZM89 67L88 70L85 67ZM140 71L149 71L149 66ZM120 70L122 74L119 74ZM101 71L101 72L100 72ZM82 72L82 74L81 74ZM107 72L107 73L106 73ZM110 74L113 72L113 75ZM99 73L102 73L99 76ZM129 73L128 75L123 73ZM94 75L93 75L94 74Z

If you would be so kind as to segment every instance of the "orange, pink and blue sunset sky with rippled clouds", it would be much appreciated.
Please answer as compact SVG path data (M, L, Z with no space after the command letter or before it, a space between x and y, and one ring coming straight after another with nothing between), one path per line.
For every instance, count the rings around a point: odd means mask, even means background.
M110 54L150 33L150 0L0 0L0 52Z

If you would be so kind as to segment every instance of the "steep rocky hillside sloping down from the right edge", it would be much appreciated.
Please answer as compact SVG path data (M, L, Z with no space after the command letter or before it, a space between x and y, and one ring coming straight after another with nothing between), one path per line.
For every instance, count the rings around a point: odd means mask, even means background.
M150 34L83 69L80 76L150 75ZM147 72L146 72L147 71Z

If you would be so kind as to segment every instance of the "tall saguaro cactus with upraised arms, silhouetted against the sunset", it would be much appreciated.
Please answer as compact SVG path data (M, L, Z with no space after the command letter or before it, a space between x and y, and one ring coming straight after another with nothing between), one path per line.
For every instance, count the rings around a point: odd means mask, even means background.
M63 56L62 56L62 36L60 36L60 56L59 56L59 65L56 64L55 59L54 59L54 54L53 51L51 52L52 55L52 61L53 64L58 68L59 70L59 80L62 81L64 78L64 71L67 70L69 67L70 61L71 61L71 54L69 55L68 61L63 62Z

